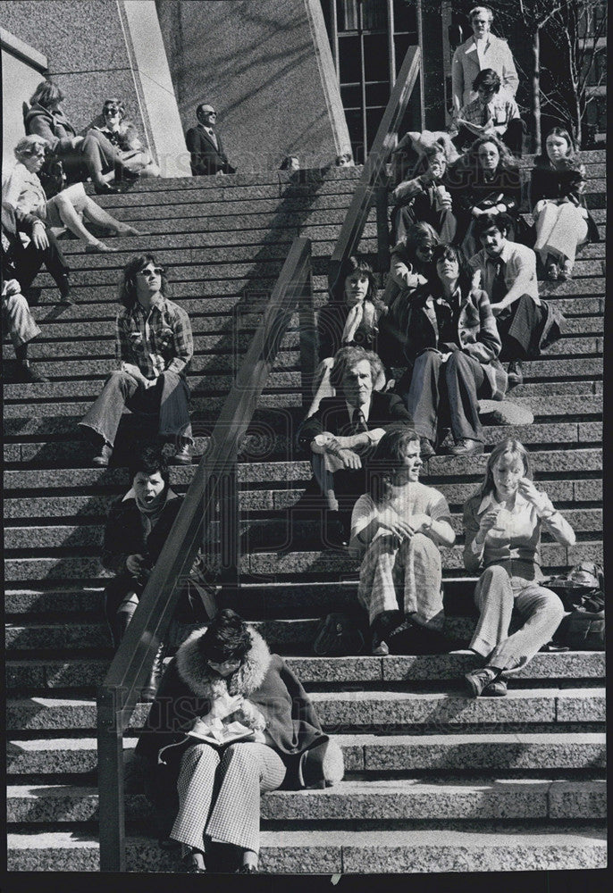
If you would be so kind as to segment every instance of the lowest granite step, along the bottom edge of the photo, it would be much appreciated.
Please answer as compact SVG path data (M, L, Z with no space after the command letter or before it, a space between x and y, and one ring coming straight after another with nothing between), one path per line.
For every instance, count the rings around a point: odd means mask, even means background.
M268 796L268 795L266 795ZM604 868L605 830L599 825L490 824L474 830L264 831L259 869L265 874L548 871ZM127 870L180 871L179 856L152 838L129 837ZM96 872L97 838L70 831L8 835L9 871Z

